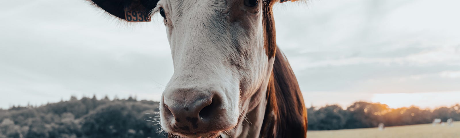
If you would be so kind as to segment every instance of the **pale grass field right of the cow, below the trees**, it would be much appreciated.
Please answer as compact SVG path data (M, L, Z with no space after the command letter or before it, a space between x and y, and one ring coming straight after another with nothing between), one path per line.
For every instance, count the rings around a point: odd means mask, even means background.
M460 121L454 126L431 124L400 127L308 131L307 138L460 138Z

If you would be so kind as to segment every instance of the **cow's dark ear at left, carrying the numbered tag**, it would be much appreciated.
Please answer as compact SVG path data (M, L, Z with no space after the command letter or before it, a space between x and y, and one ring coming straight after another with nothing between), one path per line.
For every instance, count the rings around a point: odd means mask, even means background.
M150 22L150 12L160 0L89 0L128 22Z

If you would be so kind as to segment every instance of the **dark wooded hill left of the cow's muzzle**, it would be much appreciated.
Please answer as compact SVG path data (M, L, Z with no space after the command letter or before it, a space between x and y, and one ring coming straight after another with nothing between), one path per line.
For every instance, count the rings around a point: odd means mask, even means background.
M158 102L71 97L40 107L0 109L0 138L164 138ZM157 116L157 115L156 115Z

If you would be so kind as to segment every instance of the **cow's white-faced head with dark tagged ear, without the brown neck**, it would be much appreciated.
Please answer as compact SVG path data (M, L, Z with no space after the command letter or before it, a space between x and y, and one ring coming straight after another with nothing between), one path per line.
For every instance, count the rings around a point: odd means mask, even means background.
M174 65L160 103L165 131L213 138L265 100L276 51L271 9L280 0L92 1L121 19L163 17Z

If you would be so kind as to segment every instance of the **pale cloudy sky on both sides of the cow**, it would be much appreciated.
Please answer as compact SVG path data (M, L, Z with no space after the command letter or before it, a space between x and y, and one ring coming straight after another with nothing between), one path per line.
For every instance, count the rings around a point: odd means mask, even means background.
M277 43L307 107L460 103L459 0L275 6ZM0 108L71 95L159 100L173 75L161 17L122 23L85 0L0 5Z

